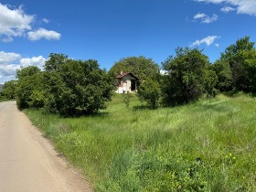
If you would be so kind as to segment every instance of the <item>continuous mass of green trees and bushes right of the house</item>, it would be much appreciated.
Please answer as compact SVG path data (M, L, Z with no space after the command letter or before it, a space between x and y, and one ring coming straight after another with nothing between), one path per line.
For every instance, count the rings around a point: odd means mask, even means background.
M162 65L166 74L155 80L154 86L143 86L143 91L138 92L151 107L160 100L165 106L186 104L214 97L218 91L256 91L256 48L250 37L238 39L213 64L202 50L176 48L176 56L170 56ZM158 88L161 92L155 91Z

